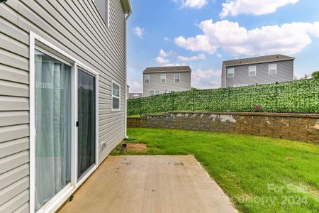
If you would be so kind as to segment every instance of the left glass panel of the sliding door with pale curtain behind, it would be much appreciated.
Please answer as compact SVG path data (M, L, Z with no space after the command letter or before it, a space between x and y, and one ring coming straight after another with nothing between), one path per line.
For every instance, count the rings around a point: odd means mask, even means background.
M71 182L71 70L35 50L35 211Z

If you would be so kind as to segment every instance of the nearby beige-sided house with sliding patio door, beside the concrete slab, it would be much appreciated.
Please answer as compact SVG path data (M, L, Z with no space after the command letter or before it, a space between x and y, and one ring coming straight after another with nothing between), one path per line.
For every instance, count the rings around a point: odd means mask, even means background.
M125 138L130 12L0 3L0 212L55 212Z

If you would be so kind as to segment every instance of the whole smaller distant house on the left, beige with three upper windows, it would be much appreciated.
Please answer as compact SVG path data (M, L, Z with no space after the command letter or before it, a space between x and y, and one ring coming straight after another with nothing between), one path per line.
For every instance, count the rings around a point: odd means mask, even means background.
M191 67L147 67L143 71L143 97L191 90Z

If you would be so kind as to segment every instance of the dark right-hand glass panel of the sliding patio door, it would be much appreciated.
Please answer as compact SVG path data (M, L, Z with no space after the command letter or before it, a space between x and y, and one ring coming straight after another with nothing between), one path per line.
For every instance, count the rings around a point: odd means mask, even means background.
M95 77L78 70L77 177L80 179L96 163Z

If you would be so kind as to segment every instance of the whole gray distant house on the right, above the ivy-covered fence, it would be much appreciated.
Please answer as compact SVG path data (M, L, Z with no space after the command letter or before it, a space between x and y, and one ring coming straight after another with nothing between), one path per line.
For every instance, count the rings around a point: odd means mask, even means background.
M286 55L264 55L223 61L222 87L292 81L294 60Z

